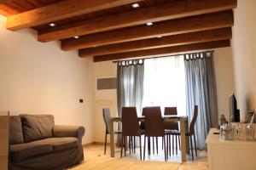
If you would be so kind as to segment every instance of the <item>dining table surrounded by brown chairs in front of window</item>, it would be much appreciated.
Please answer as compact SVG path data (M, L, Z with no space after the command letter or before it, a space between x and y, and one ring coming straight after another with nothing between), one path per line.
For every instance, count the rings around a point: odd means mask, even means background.
M144 122L145 117L139 116L138 121ZM179 122L180 125L180 150L181 161L187 161L187 153L189 153L189 140L186 137L186 132L189 129L188 116L163 116L164 122ZM121 122L121 116L110 117L110 156L114 157L114 122Z

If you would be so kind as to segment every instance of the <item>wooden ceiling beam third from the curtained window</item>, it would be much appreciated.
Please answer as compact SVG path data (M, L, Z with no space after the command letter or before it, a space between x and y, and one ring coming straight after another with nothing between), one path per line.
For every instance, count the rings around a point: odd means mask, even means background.
M233 12L203 14L154 23L153 26L135 26L61 41L61 49L91 48L119 42L131 42L159 36L170 36L194 31L212 30L234 25Z

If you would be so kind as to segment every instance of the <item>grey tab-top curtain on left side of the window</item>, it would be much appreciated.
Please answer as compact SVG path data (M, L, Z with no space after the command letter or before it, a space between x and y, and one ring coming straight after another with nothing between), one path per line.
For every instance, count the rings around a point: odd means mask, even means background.
M135 106L137 115L141 116L143 110L143 83L144 83L144 60L133 59L119 61L117 65L117 106L118 116L121 116L122 107ZM121 130L121 124L118 124ZM120 145L120 135L117 145Z

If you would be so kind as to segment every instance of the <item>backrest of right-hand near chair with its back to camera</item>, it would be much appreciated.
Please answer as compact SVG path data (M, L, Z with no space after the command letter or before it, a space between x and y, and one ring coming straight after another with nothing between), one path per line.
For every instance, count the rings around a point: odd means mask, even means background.
M144 116L146 136L165 136L164 121L160 107L145 107Z

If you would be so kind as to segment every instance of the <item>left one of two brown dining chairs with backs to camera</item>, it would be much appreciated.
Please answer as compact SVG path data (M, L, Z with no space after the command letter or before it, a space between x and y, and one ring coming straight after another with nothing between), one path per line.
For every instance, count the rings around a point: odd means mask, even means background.
M141 129L137 118L136 107L122 108L122 138L121 138L121 157L123 156L123 141L126 137L139 137L140 158L142 160L142 139ZM135 143L135 141L133 141ZM126 142L125 142L126 145ZM135 146L134 146L135 147ZM125 146L126 148L126 146ZM130 147L131 148L131 147ZM130 151L131 153L131 151Z

